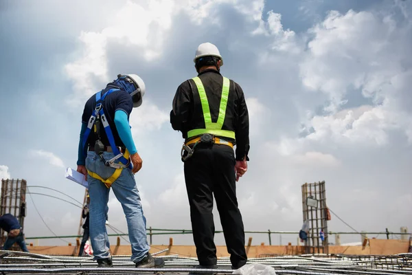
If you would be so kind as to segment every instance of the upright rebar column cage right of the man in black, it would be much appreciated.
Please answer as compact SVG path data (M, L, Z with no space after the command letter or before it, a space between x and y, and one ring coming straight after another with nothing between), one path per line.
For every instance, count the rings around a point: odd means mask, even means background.
M309 223L308 239L304 241L306 254L329 254L328 221L325 181L302 186L302 209L304 222ZM321 240L323 232L323 241Z

